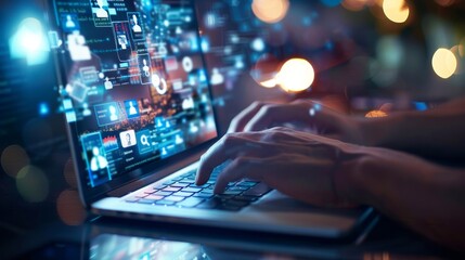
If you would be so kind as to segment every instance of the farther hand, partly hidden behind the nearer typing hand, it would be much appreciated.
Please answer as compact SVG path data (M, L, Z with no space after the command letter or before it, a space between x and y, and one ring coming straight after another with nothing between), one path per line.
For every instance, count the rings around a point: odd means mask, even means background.
M286 126L363 144L362 121L308 100L297 100L288 104L255 102L231 121L228 132L260 131Z

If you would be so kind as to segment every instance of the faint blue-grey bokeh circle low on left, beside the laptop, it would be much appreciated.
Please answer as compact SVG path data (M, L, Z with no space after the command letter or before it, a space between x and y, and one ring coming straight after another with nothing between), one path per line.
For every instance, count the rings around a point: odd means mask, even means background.
M49 180L43 171L35 166L26 166L20 170L16 187L21 196L29 203L41 203L49 195Z

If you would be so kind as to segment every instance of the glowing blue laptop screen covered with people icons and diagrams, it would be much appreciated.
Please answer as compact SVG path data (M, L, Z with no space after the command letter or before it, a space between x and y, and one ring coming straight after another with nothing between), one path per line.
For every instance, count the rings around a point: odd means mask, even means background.
M81 184L99 187L217 136L192 1L52 3Z

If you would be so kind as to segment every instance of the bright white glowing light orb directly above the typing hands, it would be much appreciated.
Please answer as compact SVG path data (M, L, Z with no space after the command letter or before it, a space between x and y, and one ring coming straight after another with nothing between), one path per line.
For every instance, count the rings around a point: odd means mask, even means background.
M308 89L314 80L313 66L303 58L290 58L281 67L276 81L285 91L299 92Z

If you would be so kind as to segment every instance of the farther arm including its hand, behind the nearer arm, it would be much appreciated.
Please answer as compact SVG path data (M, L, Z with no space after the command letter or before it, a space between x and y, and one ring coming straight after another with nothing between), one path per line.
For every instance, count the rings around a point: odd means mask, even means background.
M465 98L426 112L399 112L383 118L351 117L311 101L254 103L231 122L229 132L301 127L345 142L408 151L431 158L463 159Z

